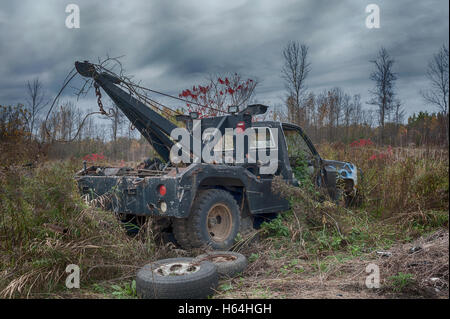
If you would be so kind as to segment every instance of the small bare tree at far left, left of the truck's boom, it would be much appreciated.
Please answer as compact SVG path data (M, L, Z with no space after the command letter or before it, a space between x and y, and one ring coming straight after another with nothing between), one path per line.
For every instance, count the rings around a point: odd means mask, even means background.
M28 110L28 129L30 130L30 138L35 130L36 121L39 113L48 104L42 83L39 78L35 78L32 82L27 82L27 110Z

